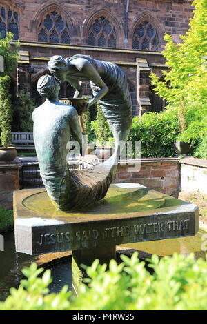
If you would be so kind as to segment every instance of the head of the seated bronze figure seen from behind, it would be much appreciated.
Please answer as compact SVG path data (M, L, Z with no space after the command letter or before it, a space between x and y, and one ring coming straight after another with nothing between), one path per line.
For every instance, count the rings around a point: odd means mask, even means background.
M59 83L51 75L43 75L37 82L37 91L39 94L50 101L57 99L59 90Z

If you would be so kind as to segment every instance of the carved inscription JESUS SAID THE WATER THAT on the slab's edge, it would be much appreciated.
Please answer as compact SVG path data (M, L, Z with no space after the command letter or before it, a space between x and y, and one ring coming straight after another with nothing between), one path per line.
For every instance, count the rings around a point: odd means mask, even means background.
M123 238L125 243L136 242L144 239L152 238L153 234L164 238L164 236L172 236L175 232L175 237L179 236L181 232L188 231L190 227L190 219L182 219L179 221L158 221L155 223L138 223L131 221L132 225L117 226L117 227L103 227L101 230L79 230L77 232L57 232L45 233L39 237L39 245L61 245L68 244L71 247L87 247L88 242L92 242L94 246L98 241L108 241L110 239L117 239L121 241ZM171 234L170 234L171 233ZM116 242L116 241L115 241Z

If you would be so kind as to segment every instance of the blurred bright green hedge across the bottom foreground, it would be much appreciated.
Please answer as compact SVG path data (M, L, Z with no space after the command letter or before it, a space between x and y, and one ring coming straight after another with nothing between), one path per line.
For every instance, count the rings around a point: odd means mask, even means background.
M131 259L121 256L123 263L110 261L99 265L96 260L88 267L88 283L81 285L79 297L72 296L68 287L59 294L48 294L52 282L50 270L42 278L36 263L24 268L26 280L18 290L12 288L10 296L0 303L0 310L207 310L207 263L195 261L193 254L174 254L159 260L154 255L139 261L137 253Z

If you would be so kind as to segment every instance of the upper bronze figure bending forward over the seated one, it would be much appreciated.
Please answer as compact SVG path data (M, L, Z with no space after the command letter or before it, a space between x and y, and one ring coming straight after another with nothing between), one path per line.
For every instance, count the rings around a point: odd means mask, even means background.
M83 94L79 81L90 81L93 98L87 108L99 101L115 138L115 155L119 159L132 125L132 101L124 71L114 63L92 59L87 55L66 59L51 57L48 69L60 83L67 81L75 88L76 98Z

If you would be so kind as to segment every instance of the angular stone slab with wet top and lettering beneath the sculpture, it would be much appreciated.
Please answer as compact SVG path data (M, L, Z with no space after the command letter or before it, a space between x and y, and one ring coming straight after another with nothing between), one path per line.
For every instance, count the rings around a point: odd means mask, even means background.
M43 254L192 236L198 207L135 183L111 185L81 212L55 210L44 190L14 192L17 252Z

